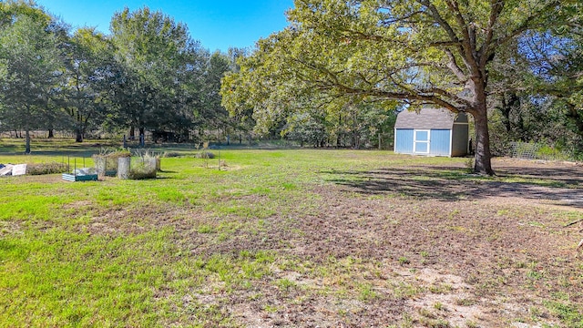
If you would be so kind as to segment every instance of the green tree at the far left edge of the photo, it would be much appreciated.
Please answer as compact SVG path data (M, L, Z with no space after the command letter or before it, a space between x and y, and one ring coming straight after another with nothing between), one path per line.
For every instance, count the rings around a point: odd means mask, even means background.
M11 17L0 26L0 109L13 128L25 130L26 153L30 153L30 131L46 128L51 117L47 111L53 109L50 100L62 76L58 40L48 15L33 9L14 10L14 5L22 8L23 3L0 5L3 17Z

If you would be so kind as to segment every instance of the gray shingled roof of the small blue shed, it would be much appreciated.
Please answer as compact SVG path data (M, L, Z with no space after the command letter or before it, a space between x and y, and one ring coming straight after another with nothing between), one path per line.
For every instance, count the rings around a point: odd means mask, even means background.
M422 108L419 113L404 110L397 116L394 128L451 129L455 123L467 123L465 113L455 114L447 109Z

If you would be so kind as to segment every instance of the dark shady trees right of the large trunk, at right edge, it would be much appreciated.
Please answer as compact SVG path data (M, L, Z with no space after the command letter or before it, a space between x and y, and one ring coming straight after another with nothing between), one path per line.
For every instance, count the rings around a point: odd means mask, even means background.
M491 121L498 154L506 154L507 144L516 140L583 151L581 12L569 15L568 28L528 31L493 60L489 99L496 109Z

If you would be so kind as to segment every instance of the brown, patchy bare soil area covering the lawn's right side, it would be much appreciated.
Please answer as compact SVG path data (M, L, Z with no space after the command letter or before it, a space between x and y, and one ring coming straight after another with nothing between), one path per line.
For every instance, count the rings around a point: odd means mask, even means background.
M495 166L498 179L435 167L330 173L312 213L220 244L270 245L290 263L223 304L250 327L581 326L568 316L583 304L582 227L565 224L583 216L583 168Z

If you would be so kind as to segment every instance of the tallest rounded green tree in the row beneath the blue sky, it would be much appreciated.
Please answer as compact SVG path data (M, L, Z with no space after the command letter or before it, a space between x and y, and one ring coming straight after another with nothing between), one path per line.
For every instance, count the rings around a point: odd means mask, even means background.
M148 7L116 13L112 41L119 63L116 99L131 127L189 129L193 93L202 74L201 50L187 26Z

